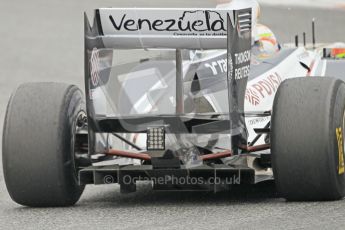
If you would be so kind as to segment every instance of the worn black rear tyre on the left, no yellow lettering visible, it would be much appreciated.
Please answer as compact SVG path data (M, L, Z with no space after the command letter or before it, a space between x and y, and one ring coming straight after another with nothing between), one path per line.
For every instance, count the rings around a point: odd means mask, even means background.
M19 86L7 107L3 130L3 170L7 190L18 204L70 206L80 198L74 160L82 92L62 83Z

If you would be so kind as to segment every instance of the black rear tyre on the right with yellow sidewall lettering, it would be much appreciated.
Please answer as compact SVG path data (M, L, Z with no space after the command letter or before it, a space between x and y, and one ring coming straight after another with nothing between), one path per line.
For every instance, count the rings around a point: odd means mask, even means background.
M284 81L272 114L272 166L287 200L345 195L345 84L333 78Z

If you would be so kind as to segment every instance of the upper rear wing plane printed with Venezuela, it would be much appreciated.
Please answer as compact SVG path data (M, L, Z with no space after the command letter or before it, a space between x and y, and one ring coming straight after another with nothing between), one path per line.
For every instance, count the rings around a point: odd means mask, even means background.
M232 30L250 30L251 9L100 8L88 34L114 49L226 49L228 15Z

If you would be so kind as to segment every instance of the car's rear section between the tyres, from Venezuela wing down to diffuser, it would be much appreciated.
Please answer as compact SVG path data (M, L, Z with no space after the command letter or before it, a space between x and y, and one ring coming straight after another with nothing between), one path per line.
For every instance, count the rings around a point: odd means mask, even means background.
M134 191L140 180L152 180L156 189L214 189L215 180L254 183L247 163L225 163L250 152L244 94L251 14L250 8L101 8L92 26L85 16L94 164L79 171L80 183L119 183L122 191ZM198 55L221 49L227 50L226 60L218 63L225 82L204 67L210 55ZM208 77L200 80L201 75ZM228 95L227 110L215 111L217 102L208 95L221 91ZM196 183L187 183L191 180Z

